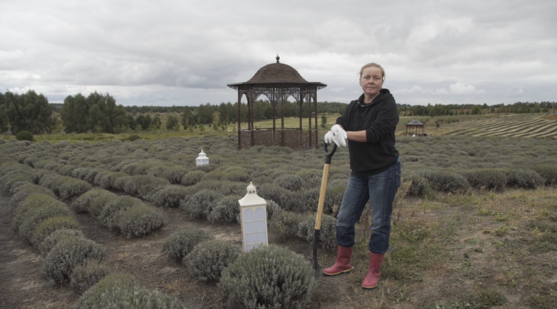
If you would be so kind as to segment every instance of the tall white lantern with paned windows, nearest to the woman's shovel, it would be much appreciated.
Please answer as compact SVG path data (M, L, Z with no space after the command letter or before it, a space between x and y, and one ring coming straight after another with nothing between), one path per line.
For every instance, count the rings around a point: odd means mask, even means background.
M246 196L240 203L242 219L242 244L244 251L249 252L258 246L267 246L267 202L257 195L256 186L249 182Z

